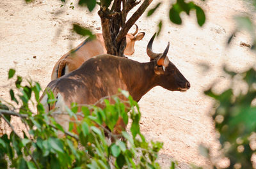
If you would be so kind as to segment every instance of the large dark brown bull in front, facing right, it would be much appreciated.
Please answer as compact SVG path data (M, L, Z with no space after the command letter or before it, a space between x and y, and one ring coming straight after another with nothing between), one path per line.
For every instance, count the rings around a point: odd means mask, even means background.
M56 112L65 112L66 105L70 107L73 102L79 105L93 104L104 96L116 94L118 88L129 91L135 101L139 101L157 85L169 91L187 91L190 87L188 80L166 56L170 43L163 54L152 52L155 35L147 46L150 62L141 63L125 57L98 55L84 62L79 69L50 82L47 87L56 96L56 103L49 107L47 95L44 94L41 103L45 111L55 108ZM68 115L59 115L55 119L68 129ZM117 124L114 133L119 133L120 129L126 127L122 119Z

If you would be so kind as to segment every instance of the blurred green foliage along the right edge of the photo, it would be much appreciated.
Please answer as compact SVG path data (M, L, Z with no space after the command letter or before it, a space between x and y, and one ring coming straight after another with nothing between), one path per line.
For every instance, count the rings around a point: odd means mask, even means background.
M256 9L255 1L246 2L250 2L250 5L255 7L254 10ZM253 43L252 50L255 50L255 26L250 17L236 16L234 20L237 26L227 43L232 41L238 31L245 30L250 33ZM214 107L216 109L214 109L212 118L219 135L221 151L230 160L228 168L255 168L252 160L255 163L253 156L255 156L256 150L256 71L250 68L243 73L237 73L228 71L225 67L223 70L231 77L232 85L229 89L221 94L215 94L212 89L205 91L206 95L215 100ZM241 78L240 82L247 85L247 89L240 89L241 91L237 94L237 90L239 90L237 79L239 77ZM205 147L202 150L204 150L203 154L210 158L208 150Z

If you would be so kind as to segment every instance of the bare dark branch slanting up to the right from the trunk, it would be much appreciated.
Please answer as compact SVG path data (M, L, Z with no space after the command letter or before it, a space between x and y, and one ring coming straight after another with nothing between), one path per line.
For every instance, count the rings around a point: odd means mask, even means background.
M116 36L116 43L120 43L122 41L122 38L126 36L129 29L135 24L136 20L140 18L140 16L143 14L143 12L147 9L148 5L152 2L152 0L145 0L141 6L136 10L131 18L126 22L125 26L121 29L121 31Z

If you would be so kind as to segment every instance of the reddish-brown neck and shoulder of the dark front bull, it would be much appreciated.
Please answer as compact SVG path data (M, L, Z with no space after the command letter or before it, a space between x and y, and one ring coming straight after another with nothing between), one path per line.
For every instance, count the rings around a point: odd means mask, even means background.
M129 70L123 70L128 91L135 101L157 85L154 62L135 62Z

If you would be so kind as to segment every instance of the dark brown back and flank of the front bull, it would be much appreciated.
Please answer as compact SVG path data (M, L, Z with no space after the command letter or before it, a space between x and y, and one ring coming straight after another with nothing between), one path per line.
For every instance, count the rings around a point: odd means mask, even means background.
M114 58L114 59L113 59ZM118 89L127 90L123 82L118 58L111 55L93 57L75 71L53 80L48 89L61 94L65 104L94 104L100 98L112 96Z

